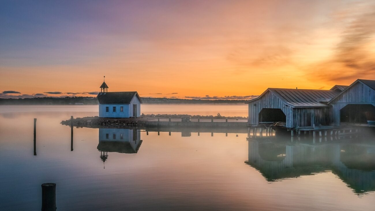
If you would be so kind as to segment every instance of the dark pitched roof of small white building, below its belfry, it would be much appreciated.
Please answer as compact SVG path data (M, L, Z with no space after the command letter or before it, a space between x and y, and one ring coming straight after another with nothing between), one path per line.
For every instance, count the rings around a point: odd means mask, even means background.
M137 92L99 92L97 98L100 104L129 104L134 96L142 103Z

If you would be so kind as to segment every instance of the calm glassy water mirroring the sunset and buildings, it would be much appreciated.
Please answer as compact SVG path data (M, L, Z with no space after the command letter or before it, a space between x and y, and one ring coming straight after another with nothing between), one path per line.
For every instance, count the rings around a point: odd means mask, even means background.
M0 210L40 210L45 182L57 184L57 210L375 210L374 136L313 143L74 128L71 151L71 129L60 122L96 109L0 107ZM145 105L142 112L247 116L246 105L201 109Z

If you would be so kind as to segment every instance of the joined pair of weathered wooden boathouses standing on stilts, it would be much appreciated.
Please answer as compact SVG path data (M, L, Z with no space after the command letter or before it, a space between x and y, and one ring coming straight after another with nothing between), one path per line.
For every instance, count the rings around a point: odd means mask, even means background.
M375 80L358 79L350 86L335 85L330 90L268 88L246 103L251 127L375 127Z

